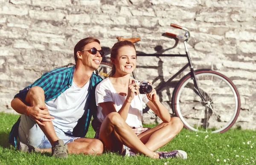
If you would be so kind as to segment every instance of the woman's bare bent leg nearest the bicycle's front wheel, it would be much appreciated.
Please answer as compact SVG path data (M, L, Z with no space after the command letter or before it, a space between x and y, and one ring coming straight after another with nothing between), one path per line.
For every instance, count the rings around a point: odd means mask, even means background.
M183 128L183 123L180 118L172 117L170 122L161 123L150 130L147 130L138 138L149 148L155 151L169 143Z

